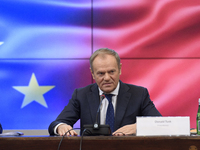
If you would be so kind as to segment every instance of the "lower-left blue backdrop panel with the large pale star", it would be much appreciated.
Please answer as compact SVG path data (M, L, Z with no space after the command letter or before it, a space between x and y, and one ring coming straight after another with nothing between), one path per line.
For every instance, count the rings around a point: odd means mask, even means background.
M92 82L89 60L0 60L0 66L0 121L4 129L47 129L74 89ZM43 88L49 89L40 92Z

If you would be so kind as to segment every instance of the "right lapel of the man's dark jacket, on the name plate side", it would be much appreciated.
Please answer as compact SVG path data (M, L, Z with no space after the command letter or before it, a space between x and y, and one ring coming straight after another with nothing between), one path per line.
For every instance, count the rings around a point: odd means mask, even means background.
M115 129L119 128L124 114L126 112L128 103L130 101L131 93L127 92L128 90L129 87L120 81L120 89L117 97L117 107L115 114Z

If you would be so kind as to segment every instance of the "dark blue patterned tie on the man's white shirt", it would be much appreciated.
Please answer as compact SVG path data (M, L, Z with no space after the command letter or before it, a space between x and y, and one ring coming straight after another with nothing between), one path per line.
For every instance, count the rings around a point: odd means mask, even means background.
M112 94L105 94L106 98L108 99L108 108L106 113L106 124L110 125L111 132L114 132L114 122L115 122L115 115L114 115L114 108L112 104Z

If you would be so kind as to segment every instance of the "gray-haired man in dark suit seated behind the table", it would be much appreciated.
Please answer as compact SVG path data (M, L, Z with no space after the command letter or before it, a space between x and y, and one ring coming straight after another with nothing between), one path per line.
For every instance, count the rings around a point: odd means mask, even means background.
M119 55L111 49L102 48L90 57L90 70L96 83L75 89L69 103L49 126L50 135L64 135L80 119L81 128L94 124L102 94L112 94L111 102L105 98L100 111L100 124L107 124L108 107L112 107L113 135L136 133L136 116L161 116L149 98L146 88L120 81ZM112 106L111 106L112 105ZM77 135L72 130L67 135Z

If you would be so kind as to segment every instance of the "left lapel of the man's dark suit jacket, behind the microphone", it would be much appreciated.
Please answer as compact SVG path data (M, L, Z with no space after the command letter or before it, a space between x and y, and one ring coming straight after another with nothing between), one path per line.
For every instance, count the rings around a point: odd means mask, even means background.
M92 122L95 123L96 114L97 114L98 106L100 103L99 91L98 91L97 84L94 84L91 87L91 91L87 93L87 100L88 100L88 104L89 104L89 107L91 110Z

